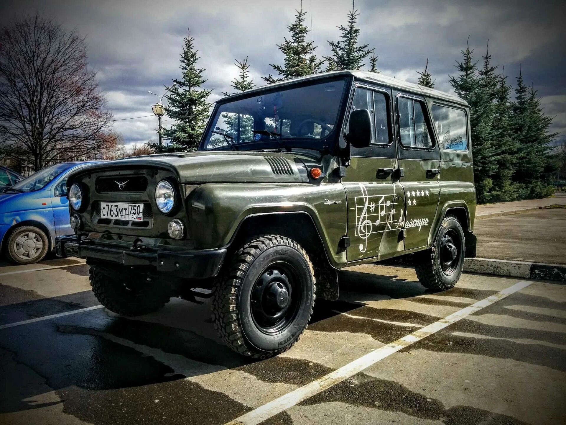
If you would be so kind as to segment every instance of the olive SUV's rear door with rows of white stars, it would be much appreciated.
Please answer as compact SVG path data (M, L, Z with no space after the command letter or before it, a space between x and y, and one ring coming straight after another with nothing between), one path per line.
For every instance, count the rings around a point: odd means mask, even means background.
M404 176L405 250L422 248L438 208L440 150L424 99L396 93L399 167Z

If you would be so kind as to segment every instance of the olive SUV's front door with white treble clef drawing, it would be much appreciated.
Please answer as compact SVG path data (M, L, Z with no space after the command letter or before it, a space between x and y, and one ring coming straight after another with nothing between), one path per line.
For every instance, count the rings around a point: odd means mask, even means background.
M365 84L354 88L350 111L368 109L374 119L370 146L350 147L350 165L342 179L348 201L349 262L382 258L399 249L397 224L403 205L398 196L402 189L396 183L391 108L390 89Z

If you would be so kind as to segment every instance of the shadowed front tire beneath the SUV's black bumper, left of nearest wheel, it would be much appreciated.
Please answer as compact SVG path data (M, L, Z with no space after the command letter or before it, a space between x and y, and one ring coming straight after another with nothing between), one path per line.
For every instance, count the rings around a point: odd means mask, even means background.
M153 313L169 302L170 288L160 282L141 281L145 275L126 275L117 268L91 266L89 271L92 292L100 304L122 316L141 316ZM138 281L136 281L138 279ZM126 284L143 284L143 292L136 294Z

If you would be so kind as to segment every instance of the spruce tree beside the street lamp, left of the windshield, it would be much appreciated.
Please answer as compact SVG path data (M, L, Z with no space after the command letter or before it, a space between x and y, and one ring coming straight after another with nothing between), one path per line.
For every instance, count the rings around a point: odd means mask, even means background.
M185 37L181 53L181 79L174 79L166 87L167 105L165 112L175 121L162 134L175 148L195 149L207 125L211 104L207 102L212 90L201 88L207 80L203 78L205 69L197 67L200 59L194 46L195 39L190 33Z

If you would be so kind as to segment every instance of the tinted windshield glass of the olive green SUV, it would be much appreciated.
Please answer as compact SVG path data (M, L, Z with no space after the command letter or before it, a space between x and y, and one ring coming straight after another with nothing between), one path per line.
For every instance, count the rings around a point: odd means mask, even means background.
M345 80L255 94L218 107L201 150L321 149L338 120ZM267 146L261 146L267 145Z

